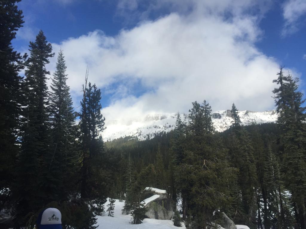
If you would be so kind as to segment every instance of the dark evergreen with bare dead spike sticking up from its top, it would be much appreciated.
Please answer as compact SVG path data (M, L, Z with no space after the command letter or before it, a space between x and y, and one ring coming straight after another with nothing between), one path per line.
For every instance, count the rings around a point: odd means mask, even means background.
M88 74L88 72L87 72ZM82 145L81 198L99 198L105 201L103 173L103 140L99 133L104 129L105 118L101 114L101 91L96 85L88 84L87 76L83 86L83 100L80 112L80 131ZM102 179L102 180L101 180Z

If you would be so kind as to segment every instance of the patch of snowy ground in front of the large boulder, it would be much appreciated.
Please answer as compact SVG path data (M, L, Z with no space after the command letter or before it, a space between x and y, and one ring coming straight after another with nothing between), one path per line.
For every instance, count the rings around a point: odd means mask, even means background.
M105 210L107 209L106 205L109 203L107 199L105 203ZM99 227L97 229L177 229L173 225L171 220L155 220L155 219L144 219L142 224L130 224L131 215L122 215L121 209L123 209L124 201L119 202L115 200L115 209L114 217L107 216L107 213L104 213L103 216L97 217L97 224ZM185 226L179 227L181 229L186 229Z

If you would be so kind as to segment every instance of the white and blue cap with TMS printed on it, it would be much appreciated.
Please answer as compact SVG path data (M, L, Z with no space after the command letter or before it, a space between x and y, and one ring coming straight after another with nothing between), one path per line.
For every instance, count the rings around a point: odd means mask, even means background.
M37 218L39 229L62 229L62 214L57 208L43 210Z

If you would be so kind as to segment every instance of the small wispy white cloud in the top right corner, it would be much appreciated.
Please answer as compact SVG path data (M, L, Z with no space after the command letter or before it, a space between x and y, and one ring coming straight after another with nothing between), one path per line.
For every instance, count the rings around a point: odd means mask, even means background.
M285 25L282 35L290 35L298 30L301 23L298 20L306 14L305 0L288 0L283 4L283 17Z

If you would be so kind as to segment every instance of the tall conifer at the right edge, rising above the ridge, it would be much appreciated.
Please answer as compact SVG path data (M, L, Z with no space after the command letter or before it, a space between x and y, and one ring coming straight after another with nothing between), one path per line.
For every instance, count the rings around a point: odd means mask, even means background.
M278 125L281 129L280 143L283 148L282 159L286 171L285 185L292 194L296 223L299 228L306 228L306 173L305 151L306 135L305 120L306 108L302 105L303 94L298 91L298 79L290 74L282 75L282 68L278 78L279 84L275 88L275 105L278 112Z

